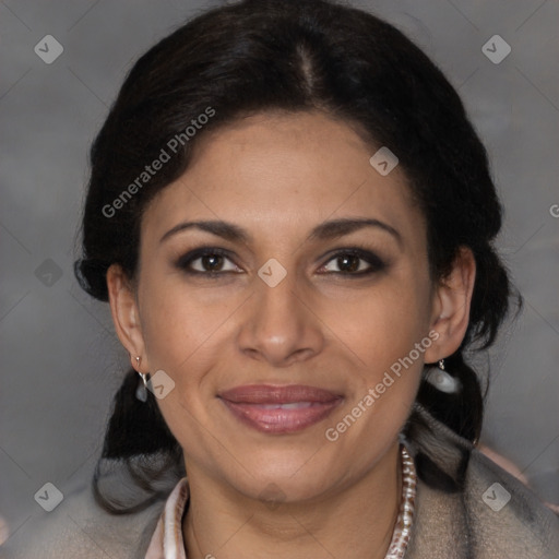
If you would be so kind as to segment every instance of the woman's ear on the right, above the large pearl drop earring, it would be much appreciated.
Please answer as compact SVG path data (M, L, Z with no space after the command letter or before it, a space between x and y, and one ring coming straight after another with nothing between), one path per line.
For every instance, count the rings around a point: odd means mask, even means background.
M426 362L452 355L462 344L469 323L475 277L474 254L469 248L460 247L449 275L437 286L432 298L430 328L439 337L426 349Z

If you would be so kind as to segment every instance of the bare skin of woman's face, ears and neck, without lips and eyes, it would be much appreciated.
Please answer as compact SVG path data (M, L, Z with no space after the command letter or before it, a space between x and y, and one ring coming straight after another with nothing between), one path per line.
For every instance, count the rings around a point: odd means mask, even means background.
M324 114L257 115L202 140L143 215L133 281L117 265L107 275L132 365L140 356L141 372L164 370L175 382L158 404L185 452L188 557L384 557L401 496L397 435L424 362L451 355L464 336L472 253L463 250L445 281L433 282L424 217L400 167L382 177L369 164L378 147ZM382 227L309 238L322 222L355 217L378 219L400 239ZM187 228L160 240L201 219L233 223L250 238ZM202 246L229 255L191 262L205 276L176 265ZM352 276L370 264L333 255L354 247L386 265ZM275 287L258 275L269 259L287 272ZM212 264L221 270L213 278ZM433 331L437 341L329 441L325 430ZM319 386L343 403L302 431L263 433L217 397L260 383ZM275 506L265 502L272 493Z

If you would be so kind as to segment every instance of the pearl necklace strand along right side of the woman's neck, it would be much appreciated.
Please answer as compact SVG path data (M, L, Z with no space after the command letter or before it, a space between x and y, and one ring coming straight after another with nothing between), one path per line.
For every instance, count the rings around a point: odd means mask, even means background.
M402 445L402 501L397 515L392 542L384 559L402 559L406 552L409 537L412 535L412 523L415 510L415 493L417 475L412 456L406 448Z

